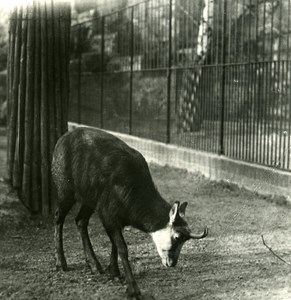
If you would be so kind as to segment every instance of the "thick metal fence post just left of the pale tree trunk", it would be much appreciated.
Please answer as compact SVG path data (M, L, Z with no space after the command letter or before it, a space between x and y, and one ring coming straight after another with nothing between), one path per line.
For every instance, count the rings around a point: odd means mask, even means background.
M169 0L169 49L167 69L167 137L166 143L171 141L171 81L172 81L172 0Z

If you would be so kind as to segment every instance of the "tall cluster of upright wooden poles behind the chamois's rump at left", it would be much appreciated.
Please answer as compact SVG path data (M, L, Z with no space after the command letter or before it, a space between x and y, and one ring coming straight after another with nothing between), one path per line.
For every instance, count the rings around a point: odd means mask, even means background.
M32 213L53 212L50 166L67 131L69 1L34 0L11 14L8 55L8 176Z

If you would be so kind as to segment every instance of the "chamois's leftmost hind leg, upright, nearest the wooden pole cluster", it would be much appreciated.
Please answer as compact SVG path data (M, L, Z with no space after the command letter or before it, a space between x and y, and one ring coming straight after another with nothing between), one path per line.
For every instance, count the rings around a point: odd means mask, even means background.
M68 269L63 247L63 225L66 215L74 203L75 200L73 197L67 201L60 201L55 212L55 256L57 270L66 271Z

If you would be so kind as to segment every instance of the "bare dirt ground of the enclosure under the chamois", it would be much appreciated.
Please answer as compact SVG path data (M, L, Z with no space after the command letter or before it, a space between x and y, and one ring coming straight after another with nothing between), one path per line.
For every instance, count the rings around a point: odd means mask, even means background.
M4 148L0 143L0 171ZM125 230L130 261L143 293L166 299L291 299L291 207L284 199L263 197L200 175L151 165L161 194L188 201L186 218L195 232L204 225L207 238L188 241L178 265L165 268L151 238ZM13 191L0 182L0 299L126 299L123 282L92 275L85 266L74 224L76 209L64 227L68 272L54 267L53 222L32 221ZM109 263L110 242L97 215L89 226L95 252Z

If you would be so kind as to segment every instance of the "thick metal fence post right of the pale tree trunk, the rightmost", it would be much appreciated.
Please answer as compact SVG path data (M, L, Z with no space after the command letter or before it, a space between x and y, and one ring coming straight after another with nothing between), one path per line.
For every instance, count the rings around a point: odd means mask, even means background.
M219 139L219 154L224 154L224 101L225 101L225 44L226 44L226 16L227 16L227 1L224 0L223 5L223 25L222 25L222 74L221 74L221 110L220 110L220 139Z

